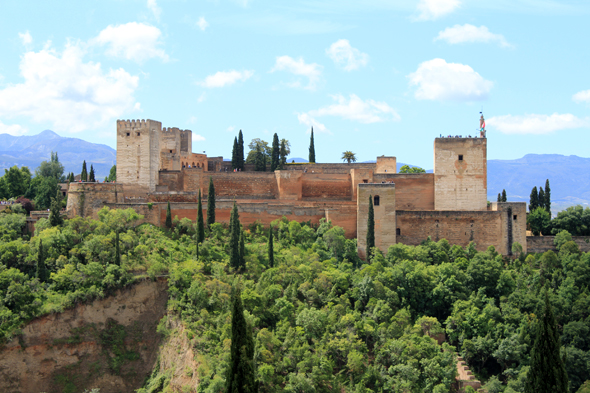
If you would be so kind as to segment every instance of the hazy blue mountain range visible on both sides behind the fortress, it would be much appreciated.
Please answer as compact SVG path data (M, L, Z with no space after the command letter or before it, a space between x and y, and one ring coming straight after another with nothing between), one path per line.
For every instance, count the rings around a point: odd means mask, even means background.
M94 165L96 176L101 179L109 174L117 158L117 152L107 145L61 137L50 130L19 137L0 134L0 149L0 171L13 165L28 166L34 171L55 151L66 173L79 174L82 161L86 160L88 170L90 164ZM288 161L307 162L299 157L289 157ZM397 164L398 170L402 165L405 164ZM516 160L488 160L488 199L495 201L498 193L505 189L509 201L528 202L532 188L544 187L546 179L551 185L555 210L590 204L590 158L559 154L527 154Z

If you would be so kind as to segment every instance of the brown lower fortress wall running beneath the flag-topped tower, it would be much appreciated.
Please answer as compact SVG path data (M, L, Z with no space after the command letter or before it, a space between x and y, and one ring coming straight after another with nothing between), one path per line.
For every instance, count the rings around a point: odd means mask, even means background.
M493 245L498 252L505 247L501 212L494 211L406 211L398 210L397 242L419 245L428 236L432 240L447 239L451 244L467 246L474 241L485 251Z

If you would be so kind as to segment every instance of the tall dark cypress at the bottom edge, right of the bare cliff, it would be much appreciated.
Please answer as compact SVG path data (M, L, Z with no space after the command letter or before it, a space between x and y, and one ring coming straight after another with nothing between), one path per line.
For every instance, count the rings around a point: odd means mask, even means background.
M257 391L254 339L252 330L244 317L240 290L235 287L232 290L231 350L225 378L225 392L256 393Z

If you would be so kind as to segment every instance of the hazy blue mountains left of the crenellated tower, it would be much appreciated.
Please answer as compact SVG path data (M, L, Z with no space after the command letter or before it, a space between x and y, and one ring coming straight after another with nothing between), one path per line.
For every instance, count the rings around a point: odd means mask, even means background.
M65 174L79 174L86 160L88 171L92 164L96 177L101 180L108 176L117 158L117 152L107 145L62 137L50 130L30 136L0 134L0 171L17 165L28 166L33 172L42 161L51 158L52 151L58 153Z

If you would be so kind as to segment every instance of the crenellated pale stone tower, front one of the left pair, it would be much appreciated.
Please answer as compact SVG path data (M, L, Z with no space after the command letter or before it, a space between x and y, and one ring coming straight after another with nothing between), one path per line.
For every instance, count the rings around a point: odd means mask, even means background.
M159 121L117 120L117 182L155 191L161 132Z

